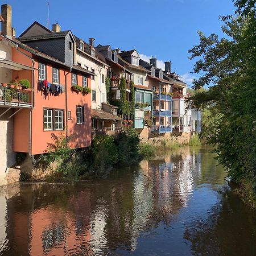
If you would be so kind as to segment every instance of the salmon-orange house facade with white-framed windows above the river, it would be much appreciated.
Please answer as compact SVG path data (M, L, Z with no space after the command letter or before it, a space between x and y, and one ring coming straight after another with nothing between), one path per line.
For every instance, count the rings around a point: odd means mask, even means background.
M23 53L26 55L24 55ZM42 55L43 56L43 55ZM82 85L82 76L86 77L87 86L90 88L90 76L84 73L82 70L71 69L65 67L59 61L55 61L53 58L43 58L33 56L32 53L25 49L19 49L17 51L13 48L13 61L28 65L32 67L34 63L34 82L33 71L14 71L13 79L27 79L30 84L34 84L34 108L22 109L14 116L14 151L16 152L29 152L30 141L30 111L31 111L31 155L42 154L48 151L52 145L55 144L56 138L64 137L66 135L66 97L67 97L67 111L68 111L68 137L69 147L81 148L90 146L91 141L91 96L90 94L82 94L81 92L75 92L72 90L72 73L76 75L76 84ZM49 83L52 81L52 68L57 69L59 76L58 84L61 85L62 93L54 95L50 92L46 93L46 90L40 88L39 80L39 63L44 64L46 69L46 77ZM65 91L65 84L67 82L67 91ZM77 124L77 106L82 110L82 122ZM44 110L49 110L51 116L51 128L45 129L44 123ZM54 123L55 112L60 111L61 117L61 129L55 129Z

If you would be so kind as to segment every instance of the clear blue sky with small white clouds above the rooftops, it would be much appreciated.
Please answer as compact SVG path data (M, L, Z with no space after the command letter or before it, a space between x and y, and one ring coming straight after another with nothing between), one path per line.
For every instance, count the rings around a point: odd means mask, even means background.
M136 48L140 57L171 61L172 72L191 86L195 60L188 49L199 43L197 31L224 36L220 15L234 13L232 0L49 0L49 28L59 23L88 42L110 44L112 49ZM47 27L48 7L44 0L6 0L13 10L13 27L19 36L35 20Z

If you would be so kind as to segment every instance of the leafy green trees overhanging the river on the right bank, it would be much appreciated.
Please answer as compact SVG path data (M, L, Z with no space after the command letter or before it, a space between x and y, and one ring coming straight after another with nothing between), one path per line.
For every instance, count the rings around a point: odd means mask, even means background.
M194 94L188 104L214 110L217 121L209 142L216 145L218 160L229 175L236 181L250 179L256 194L255 0L237 0L234 5L239 15L222 18L226 38L199 32L199 45L189 50L189 59L199 58L193 71L201 75L193 87L213 86Z

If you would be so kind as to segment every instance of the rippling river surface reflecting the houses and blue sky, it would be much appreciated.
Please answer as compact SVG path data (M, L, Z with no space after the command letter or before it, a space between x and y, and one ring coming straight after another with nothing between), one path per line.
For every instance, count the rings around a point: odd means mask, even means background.
M0 191L0 255L255 255L256 216L208 148L105 180Z

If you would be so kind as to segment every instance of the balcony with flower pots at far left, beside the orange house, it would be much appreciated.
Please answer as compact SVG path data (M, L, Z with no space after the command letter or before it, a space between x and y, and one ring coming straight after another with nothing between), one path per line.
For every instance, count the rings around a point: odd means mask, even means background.
M30 90L0 86L0 105L30 108L32 92Z

